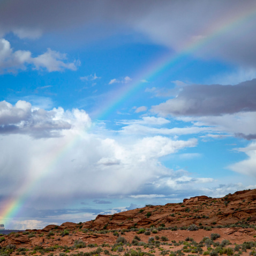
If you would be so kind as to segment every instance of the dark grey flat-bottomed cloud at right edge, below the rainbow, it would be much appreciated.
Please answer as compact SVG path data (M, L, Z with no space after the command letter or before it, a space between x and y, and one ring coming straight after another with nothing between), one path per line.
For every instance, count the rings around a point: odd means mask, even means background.
M191 85L174 99L152 107L167 116L220 116L256 111L256 79L238 85Z

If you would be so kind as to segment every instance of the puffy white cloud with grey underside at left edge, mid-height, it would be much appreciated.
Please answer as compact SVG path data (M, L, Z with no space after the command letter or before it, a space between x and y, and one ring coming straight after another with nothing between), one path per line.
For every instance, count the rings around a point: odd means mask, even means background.
M74 109L72 112L65 112L62 108L47 111L32 109L31 103L26 101L20 100L14 106L2 101L0 102L0 133L29 134L34 138L58 137L63 130L71 129L71 123L76 116L84 116L86 125L91 122L85 111Z

